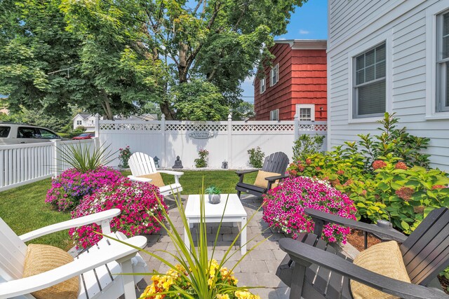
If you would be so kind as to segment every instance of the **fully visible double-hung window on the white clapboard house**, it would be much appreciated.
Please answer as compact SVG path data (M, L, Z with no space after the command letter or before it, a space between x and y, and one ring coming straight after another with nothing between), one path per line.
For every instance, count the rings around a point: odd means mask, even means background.
M354 58L354 118L382 116L387 90L385 43Z

